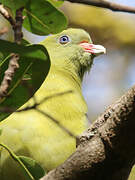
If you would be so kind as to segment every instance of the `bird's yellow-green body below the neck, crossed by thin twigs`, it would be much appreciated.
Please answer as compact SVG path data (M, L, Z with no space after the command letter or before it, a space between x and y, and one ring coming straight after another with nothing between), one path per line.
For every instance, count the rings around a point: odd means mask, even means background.
M57 93L63 94L56 96ZM81 134L87 126L87 107L77 79L64 71L51 68L46 81L36 93L36 101L40 102L48 96L52 97L39 105L38 109L53 117L74 135ZM24 107L31 105L32 101ZM36 110L14 113L0 127L2 143L17 155L32 157L46 171L63 163L76 148L75 138ZM0 179L7 180L10 177L10 180L24 180L16 165L8 153L1 149Z

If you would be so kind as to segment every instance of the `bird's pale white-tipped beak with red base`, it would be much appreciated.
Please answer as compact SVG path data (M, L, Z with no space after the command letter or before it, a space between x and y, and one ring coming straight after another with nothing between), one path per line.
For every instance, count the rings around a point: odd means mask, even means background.
M85 52L94 54L94 55L99 55L99 54L105 54L106 49L101 46L101 45L95 45L95 44L90 44L87 42L81 42L80 46L84 48Z

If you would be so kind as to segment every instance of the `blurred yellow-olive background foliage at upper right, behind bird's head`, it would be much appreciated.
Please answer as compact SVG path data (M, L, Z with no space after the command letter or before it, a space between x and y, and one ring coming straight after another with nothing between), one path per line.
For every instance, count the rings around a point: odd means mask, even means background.
M69 18L69 25L86 29L94 42L110 48L133 46L135 49L133 15L68 2L62 9Z

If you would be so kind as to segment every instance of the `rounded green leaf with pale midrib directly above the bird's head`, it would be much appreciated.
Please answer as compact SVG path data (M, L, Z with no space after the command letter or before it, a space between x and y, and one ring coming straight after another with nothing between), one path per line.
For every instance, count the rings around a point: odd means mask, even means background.
M67 27L64 14L47 0L31 1L23 12L23 26L34 34L55 34Z

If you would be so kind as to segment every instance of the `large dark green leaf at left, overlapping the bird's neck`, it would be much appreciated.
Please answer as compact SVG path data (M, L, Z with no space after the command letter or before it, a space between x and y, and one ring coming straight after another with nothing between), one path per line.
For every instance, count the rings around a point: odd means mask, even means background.
M23 46L0 40L0 51L2 53L7 51L8 54L14 52L20 55L20 67L15 72L8 89L8 96L0 100L0 121L2 121L12 113L12 110L18 109L27 102L38 90L48 74L50 61L45 47L38 44ZM3 80L5 70L8 68L9 59L9 57L5 58L0 64L0 82Z

